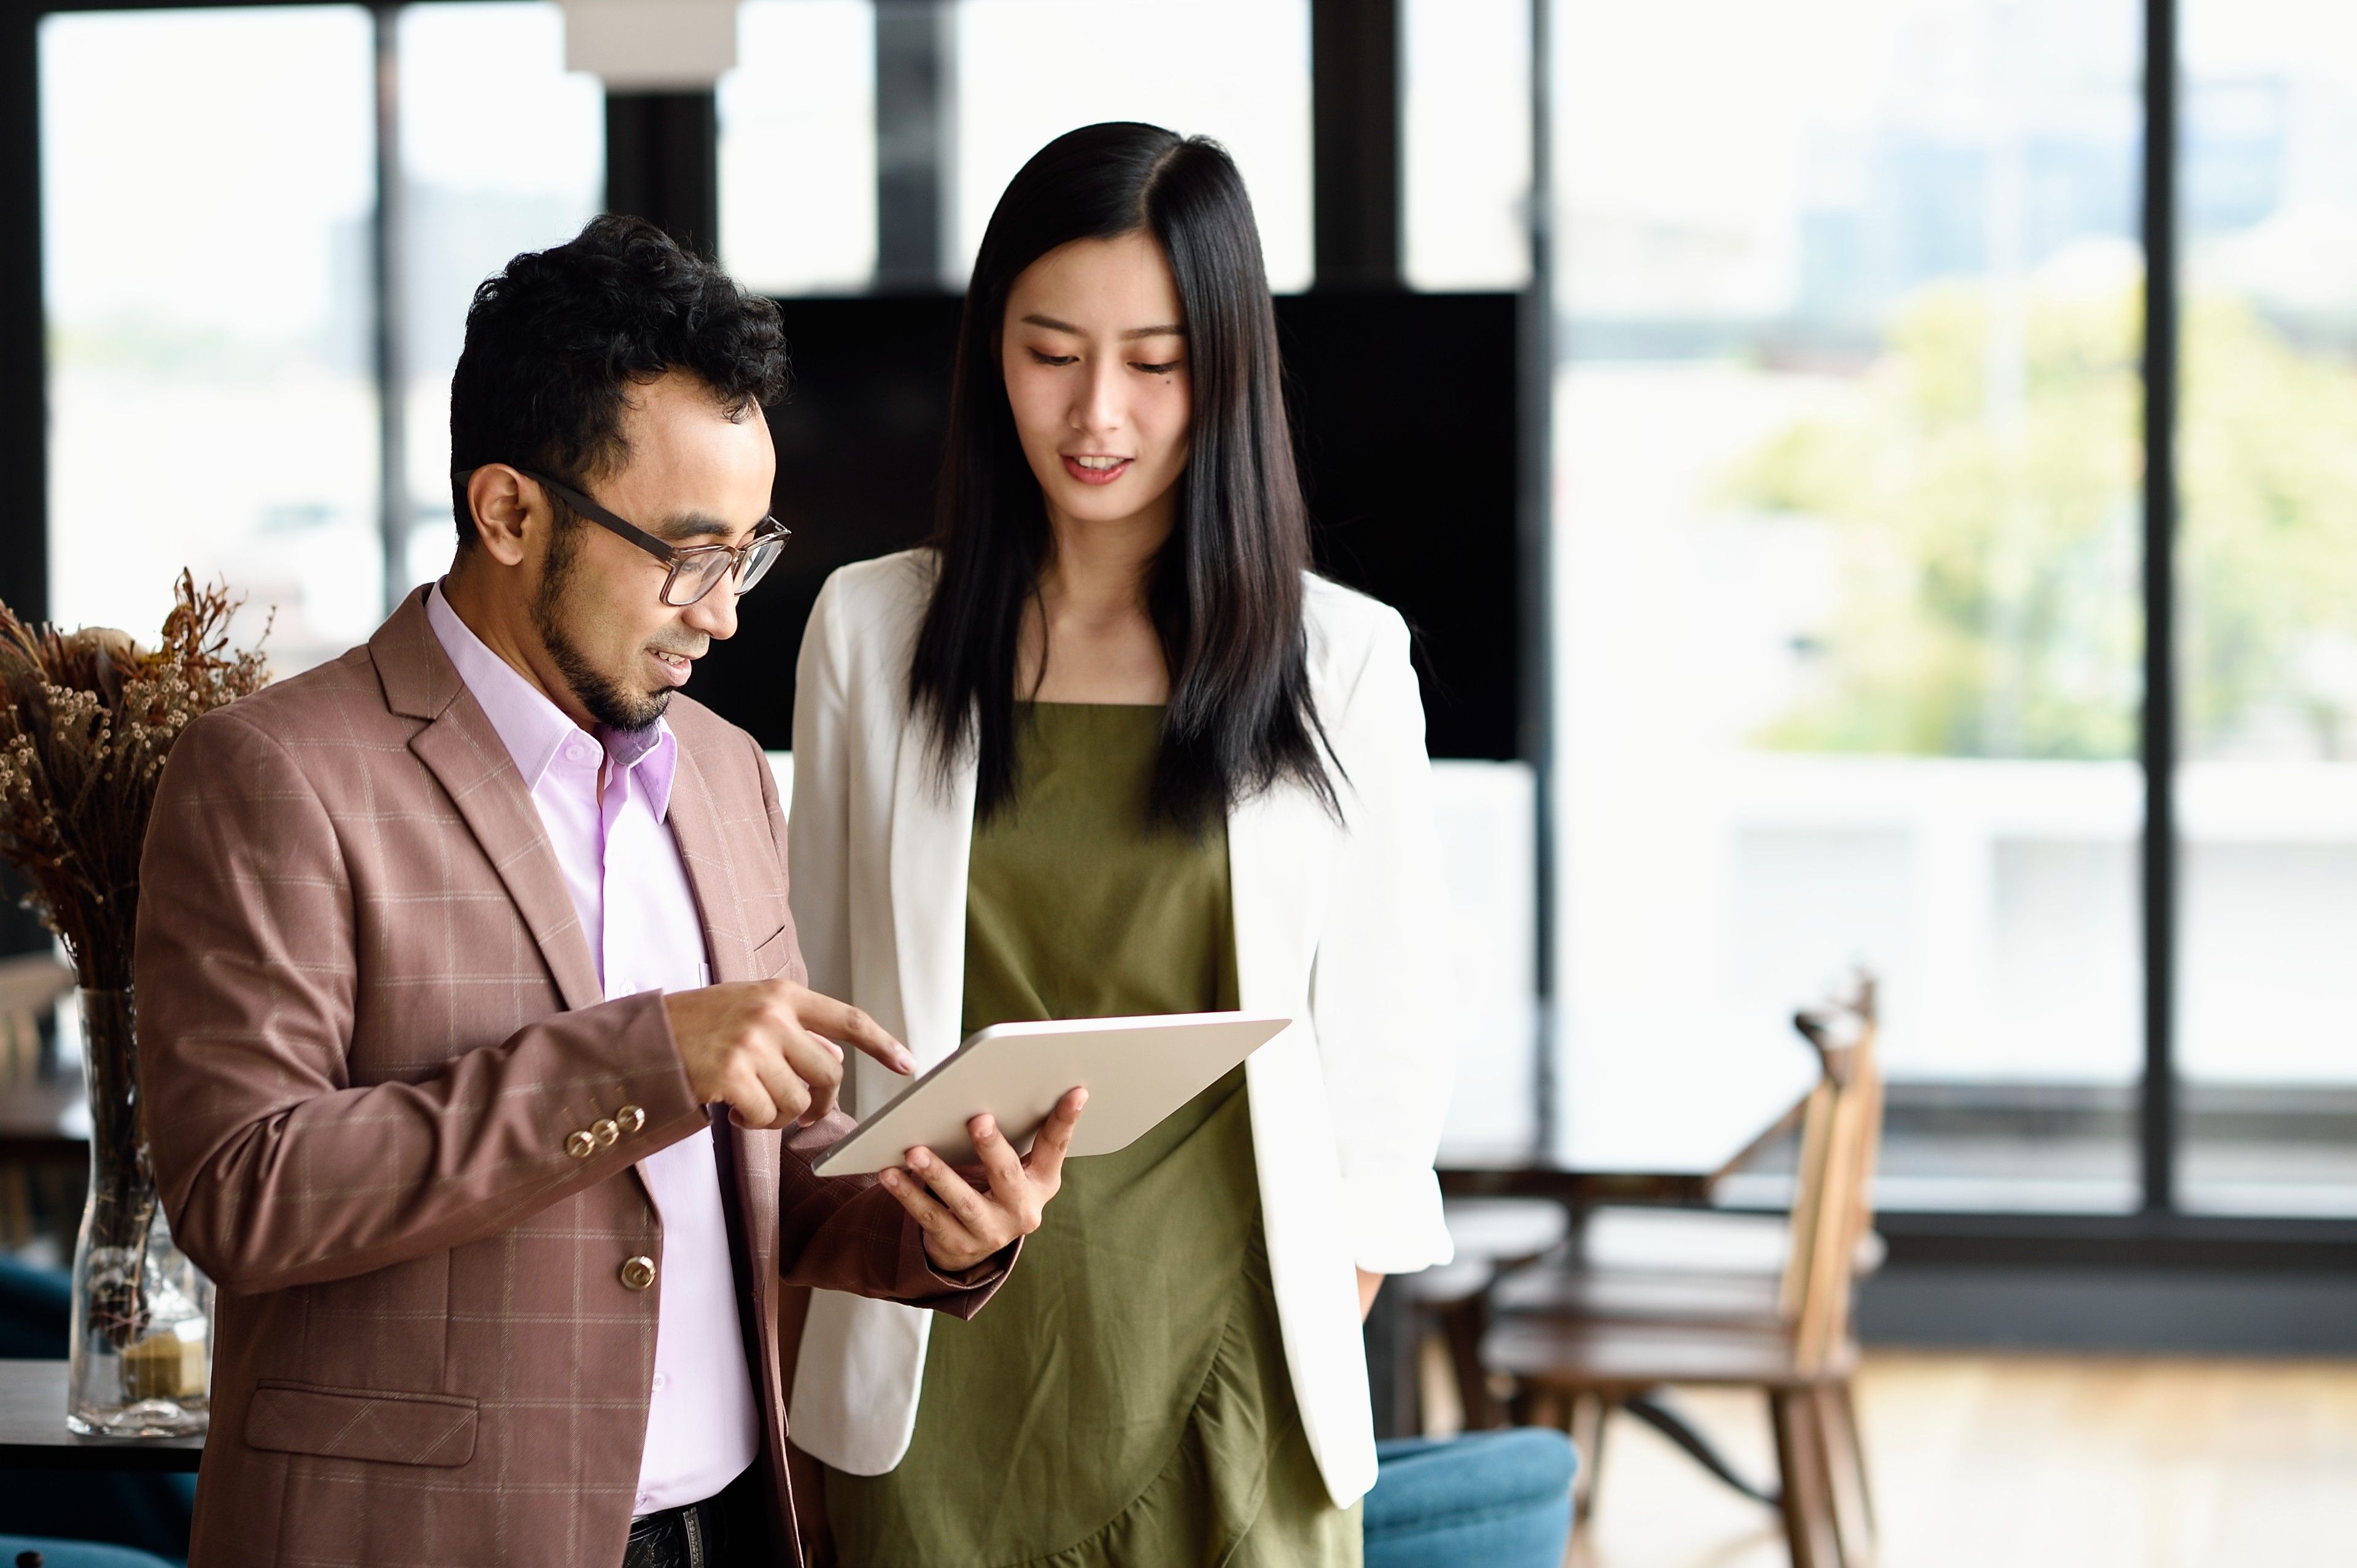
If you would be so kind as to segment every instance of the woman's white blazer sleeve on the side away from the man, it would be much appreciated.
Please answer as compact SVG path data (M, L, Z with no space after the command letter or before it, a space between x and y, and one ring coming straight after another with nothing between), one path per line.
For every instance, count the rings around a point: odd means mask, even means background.
M1343 832L1310 1016L1341 1153L1341 1219L1360 1269L1414 1273L1452 1257L1433 1158L1454 1080L1445 1021L1457 976L1435 929L1445 905L1424 698L1395 611L1379 611L1358 681L1320 717L1343 771Z

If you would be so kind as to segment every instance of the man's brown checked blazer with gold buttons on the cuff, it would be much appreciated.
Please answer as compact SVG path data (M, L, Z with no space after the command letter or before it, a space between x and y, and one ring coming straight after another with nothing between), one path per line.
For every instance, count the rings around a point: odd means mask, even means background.
M799 981L768 764L695 703L669 722L712 974ZM662 1266L634 1162L707 1120L771 1561L797 1561L780 1283L971 1316L1004 1278L933 1273L889 1193L816 1179L846 1120L742 1132L695 1103L655 993L599 1000L422 592L181 736L141 882L146 1132L172 1233L219 1285L191 1568L620 1563Z

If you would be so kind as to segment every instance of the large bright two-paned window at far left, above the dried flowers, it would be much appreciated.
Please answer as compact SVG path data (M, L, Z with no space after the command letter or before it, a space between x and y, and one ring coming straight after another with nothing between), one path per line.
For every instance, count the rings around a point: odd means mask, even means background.
M292 672L450 561L467 302L596 212L603 92L563 71L547 2L408 5L394 26L379 54L361 7L42 21L59 620L151 632L189 566L273 618L271 663ZM396 83L391 269L379 64ZM387 455L401 486L384 486Z

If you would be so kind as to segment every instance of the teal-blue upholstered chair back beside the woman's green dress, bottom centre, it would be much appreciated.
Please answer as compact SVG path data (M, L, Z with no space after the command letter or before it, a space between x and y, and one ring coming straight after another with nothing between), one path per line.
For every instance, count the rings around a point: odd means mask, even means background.
M1579 1474L1560 1431L1393 1438L1376 1457L1367 1568L1560 1568Z

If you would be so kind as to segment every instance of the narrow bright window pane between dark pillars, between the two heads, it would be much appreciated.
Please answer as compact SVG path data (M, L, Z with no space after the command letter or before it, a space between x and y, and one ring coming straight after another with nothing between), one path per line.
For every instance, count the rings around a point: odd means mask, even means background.
M721 78L721 259L747 288L832 295L877 269L874 0L745 0Z

